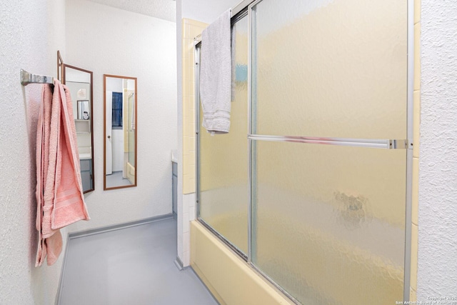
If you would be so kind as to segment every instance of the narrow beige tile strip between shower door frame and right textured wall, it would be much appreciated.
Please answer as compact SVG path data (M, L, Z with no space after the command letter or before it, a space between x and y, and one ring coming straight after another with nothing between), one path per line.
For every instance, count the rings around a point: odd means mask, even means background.
M416 301L418 256L419 134L421 124L421 0L414 0L413 193L411 217L411 290Z

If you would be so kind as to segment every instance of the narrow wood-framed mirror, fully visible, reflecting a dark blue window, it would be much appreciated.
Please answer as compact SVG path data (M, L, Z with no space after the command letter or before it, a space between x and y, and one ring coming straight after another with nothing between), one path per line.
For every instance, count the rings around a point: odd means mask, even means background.
M136 186L136 77L104 74L104 189Z

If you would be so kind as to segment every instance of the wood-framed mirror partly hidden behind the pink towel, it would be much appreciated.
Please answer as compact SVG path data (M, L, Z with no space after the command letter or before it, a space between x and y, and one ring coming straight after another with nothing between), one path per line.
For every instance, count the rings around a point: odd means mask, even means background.
M94 191L94 136L92 134L92 71L62 65L62 83L70 90L78 140L83 191Z

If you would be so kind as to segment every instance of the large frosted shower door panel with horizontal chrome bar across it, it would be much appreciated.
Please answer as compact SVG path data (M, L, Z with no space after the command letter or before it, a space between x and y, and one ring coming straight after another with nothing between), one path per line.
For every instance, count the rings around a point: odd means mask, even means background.
M251 6L251 262L303 304L403 300L406 1Z

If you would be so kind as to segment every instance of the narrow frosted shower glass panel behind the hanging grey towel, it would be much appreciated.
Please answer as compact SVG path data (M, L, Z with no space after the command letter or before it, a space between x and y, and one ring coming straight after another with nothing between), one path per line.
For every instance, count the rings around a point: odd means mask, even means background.
M236 49L228 134L200 132L200 218L248 253L248 21L236 23ZM200 118L203 114L200 112ZM200 122L201 126L201 122Z

